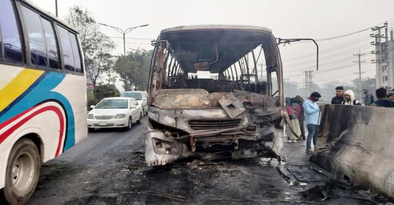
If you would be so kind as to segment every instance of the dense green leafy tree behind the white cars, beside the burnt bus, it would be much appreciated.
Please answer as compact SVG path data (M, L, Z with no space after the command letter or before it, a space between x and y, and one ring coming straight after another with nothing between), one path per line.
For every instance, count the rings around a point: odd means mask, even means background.
M123 81L125 90L131 90L132 85L137 89L147 89L152 52L137 49L128 52L126 56L118 57L115 69Z

